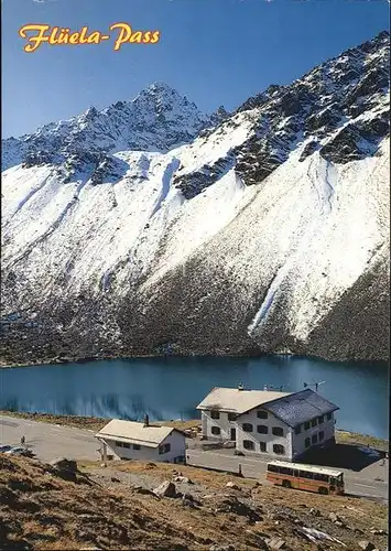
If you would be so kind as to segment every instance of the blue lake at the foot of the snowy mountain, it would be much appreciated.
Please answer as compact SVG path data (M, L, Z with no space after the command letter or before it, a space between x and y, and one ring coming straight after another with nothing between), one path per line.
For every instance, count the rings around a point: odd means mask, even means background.
M134 358L0 370L0 409L151 420L194 419L213 387L248 389L325 381L318 392L340 410L337 426L388 437L385 364L314 358ZM314 388L314 387L309 387Z

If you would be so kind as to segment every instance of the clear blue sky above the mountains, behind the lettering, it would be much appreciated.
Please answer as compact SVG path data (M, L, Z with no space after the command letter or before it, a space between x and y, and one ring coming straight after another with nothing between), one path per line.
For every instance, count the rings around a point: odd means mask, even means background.
M388 0L2 0L2 11L4 138L131 99L155 80L202 110L233 109L389 28ZM26 54L18 35L26 23L107 32L119 21L160 30L161 41Z

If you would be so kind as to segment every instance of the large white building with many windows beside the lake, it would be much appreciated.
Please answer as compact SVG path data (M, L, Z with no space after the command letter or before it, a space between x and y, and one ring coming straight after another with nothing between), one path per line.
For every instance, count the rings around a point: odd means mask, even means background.
M293 461L335 443L339 408L311 389L300 392L214 388L197 406L203 437L235 441L246 455Z

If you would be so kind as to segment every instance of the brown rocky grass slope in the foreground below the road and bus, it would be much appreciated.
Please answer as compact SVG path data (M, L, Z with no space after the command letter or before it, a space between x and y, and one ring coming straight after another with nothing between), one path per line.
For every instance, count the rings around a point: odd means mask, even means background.
M387 547L387 508L186 466L76 465L0 454L0 548L366 550Z

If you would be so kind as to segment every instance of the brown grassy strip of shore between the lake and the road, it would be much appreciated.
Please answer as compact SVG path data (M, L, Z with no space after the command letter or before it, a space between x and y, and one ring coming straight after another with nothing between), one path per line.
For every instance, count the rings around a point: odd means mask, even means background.
M56 415L52 413L25 412L25 411L9 411L0 410L1 417L14 417L21 419L31 419L47 424L61 424L66 426L74 426L76 429L88 429L91 431L99 431L110 421L110 418L98 417L84 417L84 415ZM167 426L175 426L176 429L187 430L200 426L199 419L191 419L186 421L180 420L159 420L153 421L155 424L166 424ZM388 452L389 441L387 439L379 439L369 434L359 434L352 431L345 431L343 429L336 430L336 441L339 444L362 445L369 446L372 450Z

